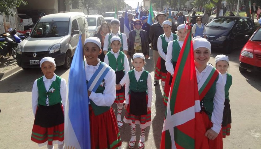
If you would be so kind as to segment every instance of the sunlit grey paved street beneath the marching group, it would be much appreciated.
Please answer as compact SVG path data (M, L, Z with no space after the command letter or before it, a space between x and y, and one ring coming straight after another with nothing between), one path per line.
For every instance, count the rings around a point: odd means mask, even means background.
M152 51L150 52L152 53ZM219 51L212 51L210 62ZM238 57L240 50L229 54L230 68L228 72L233 77L233 84L229 91L232 110L231 135L224 140L224 148L256 149L261 148L261 78L260 73L246 72L241 74L238 70ZM146 70L152 76L152 55L146 61ZM22 70L13 67L0 66L0 148L1 149L35 149L39 148L32 142L31 130L33 126L33 112L31 104L31 91L35 79L42 76L41 69ZM6 66L7 67L7 66ZM12 69L18 70L14 74L6 75ZM69 70L58 67L56 74L68 81ZM153 80L154 81L154 80ZM152 125L146 129L145 148L159 148L165 106L162 103L163 91L160 85L153 87ZM113 106L116 107L115 105ZM124 111L123 111L124 112ZM137 142L140 130L136 131ZM120 129L123 148L127 148L130 139L130 127L127 124ZM56 147L56 146L55 146ZM46 148L46 147L40 147Z

